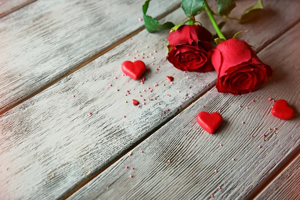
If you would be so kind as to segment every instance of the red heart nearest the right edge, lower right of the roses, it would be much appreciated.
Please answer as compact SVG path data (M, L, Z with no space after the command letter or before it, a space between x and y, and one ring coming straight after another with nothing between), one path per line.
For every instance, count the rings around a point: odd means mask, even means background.
M279 99L273 105L271 110L272 115L280 119L291 119L293 117L293 109L288 107L286 100Z

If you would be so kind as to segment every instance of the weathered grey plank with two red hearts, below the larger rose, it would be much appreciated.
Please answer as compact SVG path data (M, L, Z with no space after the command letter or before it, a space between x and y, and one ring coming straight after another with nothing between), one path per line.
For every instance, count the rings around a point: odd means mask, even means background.
M258 53L276 73L258 90L235 96L211 89L69 199L246 198L299 147L299 30L300 23ZM296 111L294 118L272 116L269 97L286 99ZM219 109L224 120L208 134L196 115ZM277 127L276 133L269 127Z

